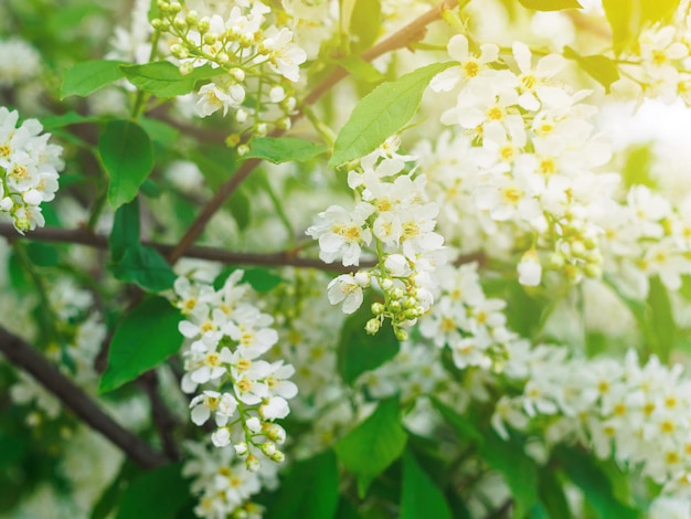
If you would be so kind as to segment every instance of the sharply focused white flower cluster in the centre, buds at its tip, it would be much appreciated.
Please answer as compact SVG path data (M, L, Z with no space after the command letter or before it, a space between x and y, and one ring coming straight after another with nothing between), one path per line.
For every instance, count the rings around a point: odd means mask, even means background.
M442 261L444 239L434 232L439 208L427 200L426 177L406 171L406 160L414 157L391 148L389 144L364 157L349 172L348 183L361 201L352 210L329 206L307 234L319 240L319 257L327 263L340 258L344 266L359 266L363 247L370 247L376 265L334 278L327 289L329 300L352 314L362 305L363 289L375 282L384 301L372 305L375 317L368 331L375 333L389 318L396 336L405 339L402 328L413 326L433 303L433 272Z

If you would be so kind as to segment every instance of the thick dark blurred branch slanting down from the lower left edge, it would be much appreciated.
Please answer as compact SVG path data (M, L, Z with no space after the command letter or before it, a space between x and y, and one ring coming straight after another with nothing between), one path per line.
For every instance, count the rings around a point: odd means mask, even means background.
M152 449L139 436L124 428L70 379L45 360L33 347L0 327L0 351L14 364L29 373L70 407L94 431L99 432L137 465L155 468L169 460Z

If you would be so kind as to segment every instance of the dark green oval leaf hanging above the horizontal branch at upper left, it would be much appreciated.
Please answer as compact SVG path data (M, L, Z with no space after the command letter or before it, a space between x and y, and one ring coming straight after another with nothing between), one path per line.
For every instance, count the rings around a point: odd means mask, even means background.
M131 120L111 120L98 139L98 153L110 177L108 202L114 209L135 199L153 167L149 136Z

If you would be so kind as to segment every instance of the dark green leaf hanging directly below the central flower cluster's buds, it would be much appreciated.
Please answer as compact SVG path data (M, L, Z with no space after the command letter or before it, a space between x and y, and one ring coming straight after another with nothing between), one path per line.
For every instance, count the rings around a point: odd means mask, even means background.
M343 322L338 345L338 371L347 384L365 371L371 371L393 359L398 352L398 339L389 320L376 335L364 331L364 325L372 318L369 301Z

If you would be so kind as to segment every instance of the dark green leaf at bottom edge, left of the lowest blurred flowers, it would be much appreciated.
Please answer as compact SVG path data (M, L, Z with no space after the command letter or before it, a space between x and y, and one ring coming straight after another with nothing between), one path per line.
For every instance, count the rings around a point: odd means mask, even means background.
M192 499L181 464L155 468L135 478L120 501L116 519L173 519Z

